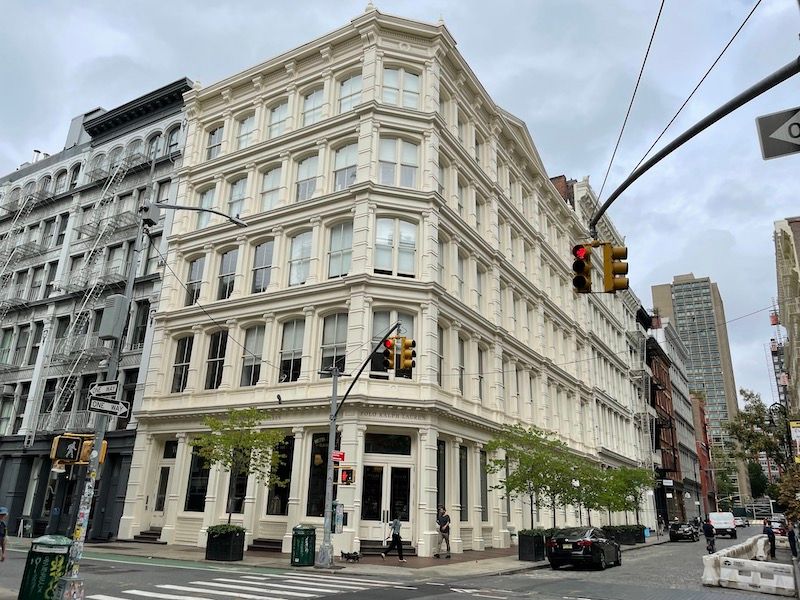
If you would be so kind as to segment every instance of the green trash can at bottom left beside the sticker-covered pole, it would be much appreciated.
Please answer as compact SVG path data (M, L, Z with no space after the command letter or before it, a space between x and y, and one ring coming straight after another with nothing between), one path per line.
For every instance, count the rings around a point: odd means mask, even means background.
M31 542L18 600L55 600L71 546L72 540L63 535L45 535Z

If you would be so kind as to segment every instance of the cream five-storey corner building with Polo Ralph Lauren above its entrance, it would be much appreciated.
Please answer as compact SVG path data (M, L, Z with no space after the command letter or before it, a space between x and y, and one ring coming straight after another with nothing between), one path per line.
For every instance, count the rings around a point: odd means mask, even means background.
M546 427L609 466L641 464L627 374L643 359L626 335L639 305L572 292L567 259L589 215L559 195L524 123L494 104L444 25L368 10L184 99L178 204L248 226L175 214L120 537L203 546L230 509L248 543L287 552L293 526L321 527L320 372L352 377L396 321L417 342L413 374L372 361L339 414L355 482L337 486L337 552L379 543L399 516L430 556L438 504L454 552L508 546L509 525L531 524L483 469L505 423ZM284 488L193 453L203 415L245 406L286 432Z

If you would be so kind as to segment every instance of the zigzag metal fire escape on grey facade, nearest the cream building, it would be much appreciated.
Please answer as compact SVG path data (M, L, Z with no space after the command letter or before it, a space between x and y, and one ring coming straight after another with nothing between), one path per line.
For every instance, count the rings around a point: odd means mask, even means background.
M52 345L52 355L47 362L42 381L46 383L51 378L57 378L58 384L54 392L48 394L50 397L43 393L47 385L41 386L42 395L37 405L43 410L37 415L37 422L26 432L26 447L33 444L37 431L85 429L91 425L88 411L79 414L72 409L74 407L65 409L72 404L81 374L91 363L107 358L110 353L110 348L105 346L97 334L89 331L89 321L96 302L106 288L124 284L127 279L125 258L116 262L106 261L105 250L115 240L130 234L137 223L137 216L133 211L117 213L116 207L111 204L128 172L132 169L141 170L148 163L149 160L144 155L135 153L112 165L109 171L95 169L87 173L91 180L104 180L105 183L99 199L92 206L90 218L77 228L80 235L77 243L88 248L80 270L69 273L60 286L65 293L83 293L75 303L69 327ZM48 404L45 405L43 400Z

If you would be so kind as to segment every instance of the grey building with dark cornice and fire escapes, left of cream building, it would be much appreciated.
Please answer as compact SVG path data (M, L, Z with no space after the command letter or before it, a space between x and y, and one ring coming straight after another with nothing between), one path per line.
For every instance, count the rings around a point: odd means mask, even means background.
M88 390L105 378L110 342L98 338L106 298L133 262L134 301L120 362L121 398L138 410L157 308L163 222L133 256L137 206L174 198L183 146L180 80L110 111L73 120L65 149L0 179L0 496L9 524L34 535L68 533L84 466L51 471L54 435L94 430ZM141 260L140 260L141 258ZM141 373L141 375L140 375ZM135 419L112 418L95 489L89 539L117 535Z

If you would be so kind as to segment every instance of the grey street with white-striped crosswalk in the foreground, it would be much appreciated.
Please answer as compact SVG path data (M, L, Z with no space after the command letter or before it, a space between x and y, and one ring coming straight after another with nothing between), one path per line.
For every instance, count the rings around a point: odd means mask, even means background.
M718 539L725 548L758 533L758 527L740 530L738 540ZM157 552L157 548L154 548ZM536 569L510 575L415 577L413 570L392 575L352 575L348 569L336 574L313 569L258 569L180 561L157 557L86 559L81 573L86 580L86 598L91 600L292 600L338 598L406 600L437 598L465 600L489 598L541 598L543 600L722 600L755 598L755 594L704 588L700 584L700 542L675 542L623 554L621 567L605 571L562 567L557 571ZM9 553L3 566L3 586L16 589L22 576L25 554ZM16 598L16 594L0 596Z

